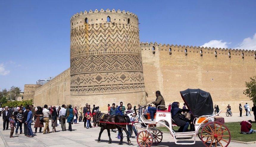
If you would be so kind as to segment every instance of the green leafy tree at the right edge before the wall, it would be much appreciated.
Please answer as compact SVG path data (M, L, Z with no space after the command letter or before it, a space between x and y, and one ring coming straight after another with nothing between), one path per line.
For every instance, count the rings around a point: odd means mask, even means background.
M250 82L245 82L246 90L243 91L247 97L249 97L253 103L256 103L256 76L250 77Z

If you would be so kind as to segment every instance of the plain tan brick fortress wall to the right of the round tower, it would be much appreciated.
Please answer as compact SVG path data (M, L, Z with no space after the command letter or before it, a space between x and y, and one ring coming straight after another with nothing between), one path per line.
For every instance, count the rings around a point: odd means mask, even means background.
M151 42L141 43L141 52L148 102L155 100L156 90L168 104L182 101L179 91L199 88L210 92L213 103L222 110L227 104L233 112L239 112L239 103L253 106L243 90L256 74L255 51Z

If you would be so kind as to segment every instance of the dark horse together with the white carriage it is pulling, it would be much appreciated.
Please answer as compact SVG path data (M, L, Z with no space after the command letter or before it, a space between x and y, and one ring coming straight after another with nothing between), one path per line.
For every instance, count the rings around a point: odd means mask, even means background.
M178 132L174 129L175 127L177 127L177 125L172 120L170 104L167 106L167 111L157 110L154 121L149 121L145 118L143 114L140 114L139 122L129 122L128 116L115 115L113 116L115 118L111 118L111 116L97 114L94 120L96 120L96 122L98 122L98 125L102 127L99 134L98 142L100 141L100 136L103 130L107 129L109 135L109 143L111 143L110 129L118 128L119 133L121 133L121 140L119 144L122 144L123 133L121 129L124 129L128 136L126 125L129 124L128 127L131 127L130 125L135 125L135 127L139 127L139 129L142 129L142 131L138 132L137 135L138 145L141 147L150 147L152 146L152 144L160 143L163 139L163 132L155 127L157 124L161 124L169 130L176 144L195 144L196 136L198 136L200 140L202 140L203 144L207 147L227 147L230 143L231 138L230 131L223 123L214 121L214 117L220 114L221 111L219 111L218 114L214 115L213 101L210 93L200 89L187 89L181 91L180 94L186 106L190 110L191 115L193 116L193 120L191 120L193 124L190 125L193 125L194 131L188 130L187 132ZM128 118L126 119L126 117ZM115 121L111 122L111 120ZM146 128L140 127L139 124L146 124ZM185 141L182 142L182 140ZM131 144L131 141L128 137L127 142Z

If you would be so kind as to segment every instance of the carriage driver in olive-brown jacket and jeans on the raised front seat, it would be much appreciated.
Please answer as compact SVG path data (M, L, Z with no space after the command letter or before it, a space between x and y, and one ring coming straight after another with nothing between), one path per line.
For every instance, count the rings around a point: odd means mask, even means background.
M161 95L160 91L156 91L156 100L153 102L153 104L156 107L150 107L149 108L149 114L150 114L150 119L149 121L154 121L154 115L157 111L157 106L161 105L158 110L165 110L165 102L163 99L163 96Z

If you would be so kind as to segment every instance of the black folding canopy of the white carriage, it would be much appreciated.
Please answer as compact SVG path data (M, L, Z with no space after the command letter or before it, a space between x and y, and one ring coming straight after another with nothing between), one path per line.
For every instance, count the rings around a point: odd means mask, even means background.
M213 114L213 100L209 92L201 89L187 89L180 91L180 94L193 116Z

